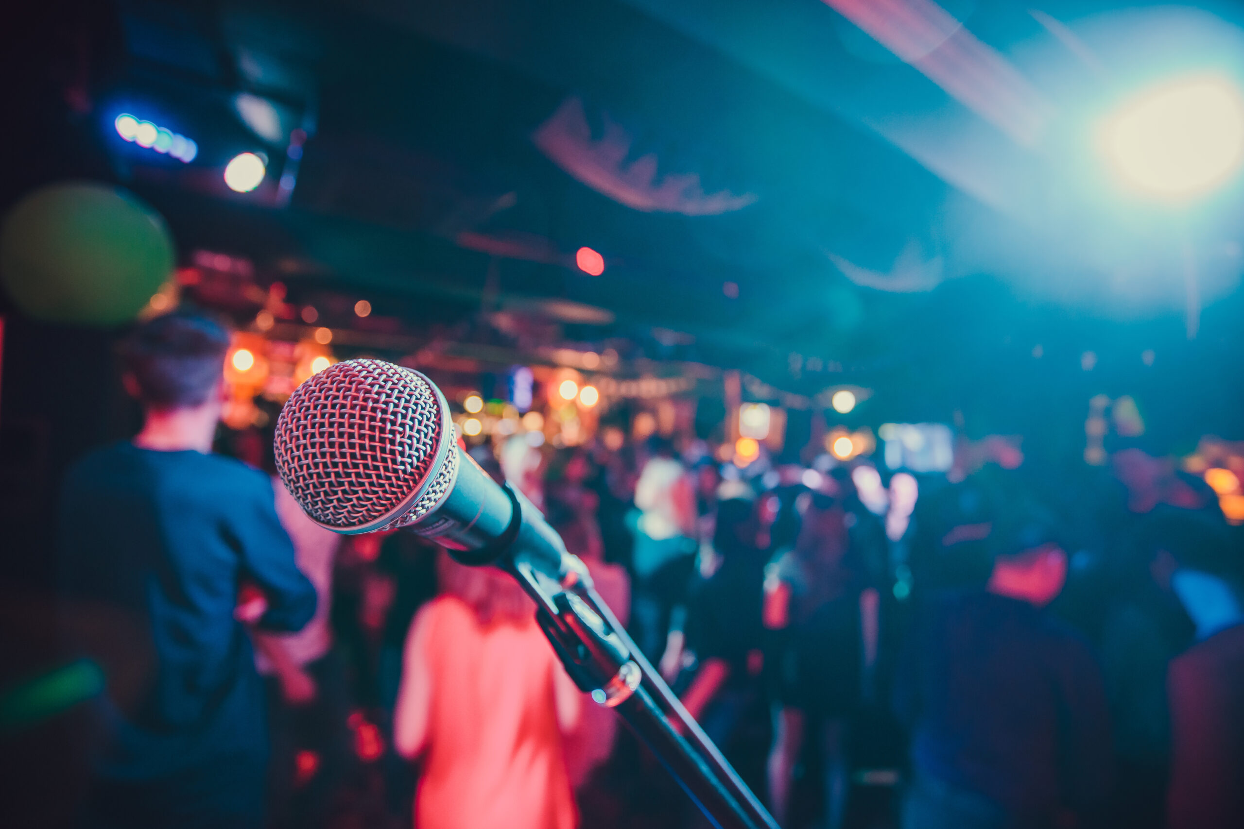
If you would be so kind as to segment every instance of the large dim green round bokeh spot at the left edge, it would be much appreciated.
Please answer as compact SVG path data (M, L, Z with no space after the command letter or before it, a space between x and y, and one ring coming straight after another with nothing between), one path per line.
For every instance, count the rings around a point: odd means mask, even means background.
M173 270L164 220L108 184L53 184L17 203L0 227L0 280L36 319L129 322Z

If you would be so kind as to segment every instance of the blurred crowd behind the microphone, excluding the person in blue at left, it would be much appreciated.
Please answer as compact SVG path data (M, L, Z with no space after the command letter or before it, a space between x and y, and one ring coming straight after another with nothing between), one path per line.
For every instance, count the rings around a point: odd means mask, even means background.
M739 469L661 437L470 451L782 827L1244 825L1240 539L1157 447L1107 449L1064 476L998 452ZM264 676L269 825L708 825L513 582L413 534L332 534L271 477L270 437L228 450L267 471L306 579L256 566L233 609Z

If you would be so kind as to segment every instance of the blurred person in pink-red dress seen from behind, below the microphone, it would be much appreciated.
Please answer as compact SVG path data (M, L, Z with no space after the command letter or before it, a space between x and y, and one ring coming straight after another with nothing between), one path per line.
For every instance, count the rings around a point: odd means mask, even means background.
M397 751L422 759L419 829L572 829L562 735L582 706L535 623L493 568L442 556L443 592L411 625L393 715Z

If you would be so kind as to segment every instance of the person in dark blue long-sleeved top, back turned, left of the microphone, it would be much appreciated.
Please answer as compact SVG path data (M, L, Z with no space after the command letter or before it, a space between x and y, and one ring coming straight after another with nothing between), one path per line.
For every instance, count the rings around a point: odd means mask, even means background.
M142 431L65 480L62 621L108 677L87 827L264 822L267 728L249 626L299 630L316 593L267 476L211 454L228 348L205 317L139 324L121 355Z

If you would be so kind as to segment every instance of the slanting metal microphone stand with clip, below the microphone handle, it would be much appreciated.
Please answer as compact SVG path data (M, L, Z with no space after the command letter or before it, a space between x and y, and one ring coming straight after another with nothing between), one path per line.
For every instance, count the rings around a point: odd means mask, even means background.
M718 829L778 829L618 624L577 556L565 553L557 578L521 552L498 566L536 602L536 620L575 684L597 703L617 708Z

